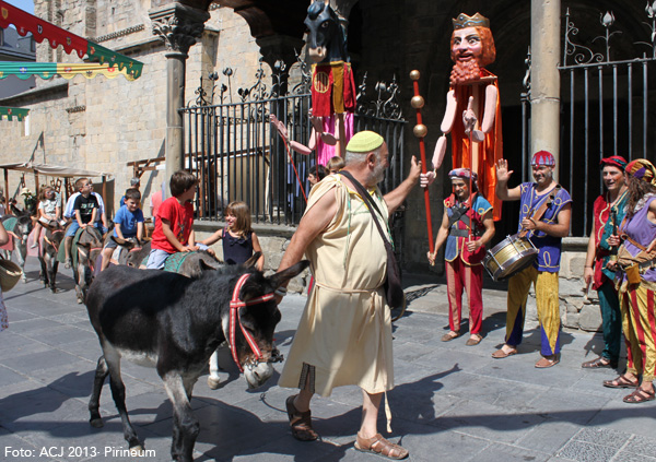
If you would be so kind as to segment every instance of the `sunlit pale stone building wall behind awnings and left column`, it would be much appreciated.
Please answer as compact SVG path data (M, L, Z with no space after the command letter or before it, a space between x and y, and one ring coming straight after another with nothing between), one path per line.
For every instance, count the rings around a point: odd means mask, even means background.
M138 59L144 64L143 74L133 82L122 76L37 79L35 90L3 99L3 105L31 111L25 122L0 123L0 163L32 159L107 173L115 178L115 193L105 199L116 210L133 175L127 163L164 155L166 48L151 32L150 4L145 0L35 1L36 15ZM59 10L63 13L59 14ZM219 73L219 86L227 85L227 78L222 74L226 67L234 70L231 86L237 100L237 88L248 87L255 81L259 48L246 21L230 8L212 9L206 26L202 37L189 50L185 100L196 99L201 75L210 90L210 72ZM54 50L47 40L37 44L37 60L81 62L77 54ZM265 69L268 72L268 67ZM16 185L21 178L22 174L10 171L10 196L20 190ZM144 199L160 187L163 178L163 171L144 174ZM49 179L39 178L42 183L46 180ZM25 181L34 190L34 178L26 176ZM94 178L94 182L99 182L99 178ZM148 206L144 212L149 214Z

